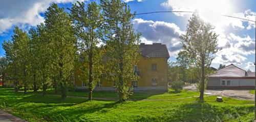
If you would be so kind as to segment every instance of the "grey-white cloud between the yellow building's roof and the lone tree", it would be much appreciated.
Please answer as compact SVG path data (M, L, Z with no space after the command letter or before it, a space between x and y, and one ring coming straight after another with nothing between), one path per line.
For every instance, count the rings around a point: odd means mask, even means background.
M166 44L171 56L176 56L182 49L180 35L184 32L175 23L134 19L133 25L135 30L142 33L141 42L143 43Z

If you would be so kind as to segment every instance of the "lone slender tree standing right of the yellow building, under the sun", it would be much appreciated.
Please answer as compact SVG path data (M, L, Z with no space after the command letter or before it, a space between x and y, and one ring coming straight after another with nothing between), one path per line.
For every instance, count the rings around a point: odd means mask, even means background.
M186 29L186 34L181 35L183 49L193 60L195 65L201 69L200 101L203 101L205 87L205 69L208 69L215 53L218 51L217 37L213 31L214 27L202 21L198 13L194 13Z

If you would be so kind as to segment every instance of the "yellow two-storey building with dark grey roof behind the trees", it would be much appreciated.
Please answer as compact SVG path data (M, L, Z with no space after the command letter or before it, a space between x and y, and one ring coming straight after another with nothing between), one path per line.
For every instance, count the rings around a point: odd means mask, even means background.
M140 76L138 81L131 81L135 91L143 90L163 90L167 91L167 60L169 53L166 45L161 43L139 45L139 62L134 66L135 71ZM101 81L94 90L116 90L114 81ZM86 89L86 83L75 79L76 89Z

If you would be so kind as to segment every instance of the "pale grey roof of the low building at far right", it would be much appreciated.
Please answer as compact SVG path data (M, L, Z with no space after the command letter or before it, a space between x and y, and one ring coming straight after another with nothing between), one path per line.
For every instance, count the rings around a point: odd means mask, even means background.
M249 74L251 76L251 73ZM216 73L209 75L209 77L248 77L248 73L245 70L231 64L217 70Z

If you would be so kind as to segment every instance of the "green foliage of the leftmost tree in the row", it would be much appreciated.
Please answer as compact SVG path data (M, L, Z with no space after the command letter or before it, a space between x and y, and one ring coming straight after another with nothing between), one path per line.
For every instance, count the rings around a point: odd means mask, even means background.
M6 57L10 62L9 76L10 79L15 80L15 91L18 90L18 85L24 85L25 93L27 92L28 85L31 79L31 53L29 50L30 38L27 32L22 31L17 26L13 30L11 41L4 41L3 48L6 51ZM18 83L18 81L21 81Z

